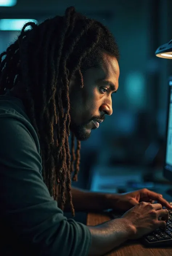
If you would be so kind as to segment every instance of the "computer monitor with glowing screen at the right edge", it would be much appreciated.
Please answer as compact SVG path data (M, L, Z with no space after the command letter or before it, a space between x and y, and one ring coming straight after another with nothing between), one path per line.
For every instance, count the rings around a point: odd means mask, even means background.
M169 77L164 177L172 182L172 76Z

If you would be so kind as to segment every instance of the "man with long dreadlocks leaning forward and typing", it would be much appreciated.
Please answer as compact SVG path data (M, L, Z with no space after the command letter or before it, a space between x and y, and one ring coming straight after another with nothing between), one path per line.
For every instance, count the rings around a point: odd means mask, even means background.
M25 30L28 26L32 29ZM71 190L79 141L112 114L118 59L112 34L72 7L64 17L26 24L1 54L1 255L103 255L127 239L165 227L168 211L162 205L170 205L149 190L122 195ZM54 200L54 181L62 205L69 203L73 214L74 208L128 211L97 227L67 220Z

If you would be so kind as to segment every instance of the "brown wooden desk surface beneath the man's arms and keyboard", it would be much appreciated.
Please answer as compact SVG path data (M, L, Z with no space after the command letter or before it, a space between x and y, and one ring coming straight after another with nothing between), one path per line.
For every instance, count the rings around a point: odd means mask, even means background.
M89 213L87 215L87 225L98 225L110 220L107 215ZM136 240L135 243L127 241L108 256L172 256L172 248L146 248Z

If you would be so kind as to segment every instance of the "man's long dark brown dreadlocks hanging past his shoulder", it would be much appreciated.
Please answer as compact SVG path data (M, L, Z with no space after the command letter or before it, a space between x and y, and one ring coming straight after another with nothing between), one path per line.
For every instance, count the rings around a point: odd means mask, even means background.
M98 21L70 7L65 16L41 24L26 23L17 40L0 55L0 94L19 84L25 90L23 103L40 141L44 182L55 198L56 179L62 204L67 195L73 215L71 172L77 180L81 144L77 141L75 153L72 134L71 159L69 80L76 74L83 86L83 70L99 65L103 52L118 60L112 34Z

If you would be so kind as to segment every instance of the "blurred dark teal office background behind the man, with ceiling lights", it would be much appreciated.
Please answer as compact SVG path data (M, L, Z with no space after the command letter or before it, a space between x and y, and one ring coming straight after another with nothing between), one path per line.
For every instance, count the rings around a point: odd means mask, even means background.
M157 58L155 50L172 39L172 1L0 0L0 5L0 52L23 24L3 19L41 22L64 15L69 6L107 25L118 42L120 78L113 115L82 142L79 180L73 185L126 192L127 187L156 191L156 183L167 184L163 160L172 61Z

